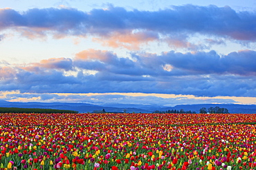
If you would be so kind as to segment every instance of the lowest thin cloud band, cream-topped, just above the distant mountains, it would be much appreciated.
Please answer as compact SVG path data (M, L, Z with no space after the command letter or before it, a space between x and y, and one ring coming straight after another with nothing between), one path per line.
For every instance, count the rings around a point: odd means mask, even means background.
M236 103L237 100L245 100L246 98L236 98L232 100L228 97L196 97L185 95L170 94L143 94L143 93L21 93L19 91L0 92L0 98L9 101L18 102L66 102L66 103L91 103L96 105L112 105L115 103L129 105L162 105L173 106L179 104L202 104L202 103ZM255 98L250 98L255 102Z

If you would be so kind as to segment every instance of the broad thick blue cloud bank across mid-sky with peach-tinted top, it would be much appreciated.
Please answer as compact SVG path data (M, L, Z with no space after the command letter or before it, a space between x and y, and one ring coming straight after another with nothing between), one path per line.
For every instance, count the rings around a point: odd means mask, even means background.
M53 58L0 67L0 89L22 93L143 92L194 96L255 96L255 51L220 56L164 52L121 57L84 50L73 59Z

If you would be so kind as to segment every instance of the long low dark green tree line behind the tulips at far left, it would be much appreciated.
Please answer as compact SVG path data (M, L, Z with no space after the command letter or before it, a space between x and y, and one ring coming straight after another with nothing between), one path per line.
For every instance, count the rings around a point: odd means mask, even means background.
M0 107L0 113L37 113L37 114L78 114L78 111L64 109L39 109L39 108L19 108L19 107Z

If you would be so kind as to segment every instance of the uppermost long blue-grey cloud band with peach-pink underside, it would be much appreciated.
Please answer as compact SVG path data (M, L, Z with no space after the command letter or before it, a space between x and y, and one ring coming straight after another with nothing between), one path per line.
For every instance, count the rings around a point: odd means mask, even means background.
M228 6L185 5L158 11L125 10L113 6L89 12L74 8L33 8L24 12L0 10L0 30L14 29L30 39L48 34L54 37L93 35L106 39L105 42L95 39L104 45L135 50L136 45L150 41L195 48L196 44L188 41L195 34L255 41L255 21L255 12L237 12Z

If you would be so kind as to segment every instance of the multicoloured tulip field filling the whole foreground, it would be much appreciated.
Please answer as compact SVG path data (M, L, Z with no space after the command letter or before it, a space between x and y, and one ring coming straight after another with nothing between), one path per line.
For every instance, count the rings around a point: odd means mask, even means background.
M256 169L256 114L0 114L0 169Z

